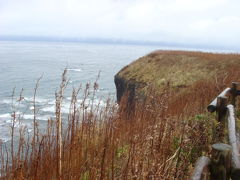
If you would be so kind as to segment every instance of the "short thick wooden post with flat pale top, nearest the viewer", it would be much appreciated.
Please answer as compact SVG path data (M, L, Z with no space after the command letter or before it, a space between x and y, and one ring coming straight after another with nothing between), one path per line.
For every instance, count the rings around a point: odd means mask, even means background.
M217 143L212 145L210 165L211 180L229 180L231 176L231 146Z

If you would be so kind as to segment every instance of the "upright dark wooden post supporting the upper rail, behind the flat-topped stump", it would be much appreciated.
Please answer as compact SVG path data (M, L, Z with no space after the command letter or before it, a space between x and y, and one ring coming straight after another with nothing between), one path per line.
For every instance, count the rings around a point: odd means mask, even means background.
M225 124L227 116L227 97L217 97L217 120L219 127L217 128L217 142L224 142Z

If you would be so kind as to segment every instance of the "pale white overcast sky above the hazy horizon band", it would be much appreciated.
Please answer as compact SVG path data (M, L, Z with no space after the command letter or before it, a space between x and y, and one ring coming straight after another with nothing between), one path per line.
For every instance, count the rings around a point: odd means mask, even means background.
M239 0L0 0L0 36L240 44Z

